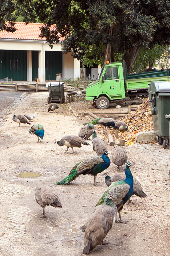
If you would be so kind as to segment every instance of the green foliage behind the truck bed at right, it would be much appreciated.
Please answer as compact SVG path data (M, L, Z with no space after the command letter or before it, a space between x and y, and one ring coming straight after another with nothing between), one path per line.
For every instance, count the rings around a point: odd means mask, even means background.
M131 72L140 72L147 68L157 67L158 64L166 62L169 65L169 47L167 45L154 45L151 49L142 47L134 61Z

